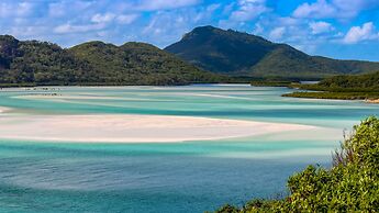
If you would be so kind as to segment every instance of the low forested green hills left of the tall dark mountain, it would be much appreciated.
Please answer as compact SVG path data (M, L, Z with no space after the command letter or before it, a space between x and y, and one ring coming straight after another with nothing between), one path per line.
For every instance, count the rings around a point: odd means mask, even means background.
M0 35L0 86L188 85L227 78L143 43L90 42L69 49Z

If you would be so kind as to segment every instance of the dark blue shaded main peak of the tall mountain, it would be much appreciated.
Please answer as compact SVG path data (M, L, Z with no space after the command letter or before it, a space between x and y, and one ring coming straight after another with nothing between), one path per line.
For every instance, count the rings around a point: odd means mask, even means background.
M204 26L165 49L207 70L233 74L254 66L274 47L261 37Z

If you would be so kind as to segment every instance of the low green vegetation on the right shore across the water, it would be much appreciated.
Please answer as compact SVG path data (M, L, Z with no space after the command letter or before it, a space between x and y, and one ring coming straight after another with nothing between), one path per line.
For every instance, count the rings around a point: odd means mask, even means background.
M376 100L379 99L379 71L355 76L335 76L315 85L291 83L289 87L322 92L293 92L283 97Z

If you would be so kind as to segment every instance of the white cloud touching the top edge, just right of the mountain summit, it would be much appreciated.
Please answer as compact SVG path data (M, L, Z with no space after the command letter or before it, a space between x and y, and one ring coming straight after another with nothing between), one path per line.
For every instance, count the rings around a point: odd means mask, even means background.
M239 0L238 9L232 12L231 20L242 22L253 20L270 11L265 3L265 0Z

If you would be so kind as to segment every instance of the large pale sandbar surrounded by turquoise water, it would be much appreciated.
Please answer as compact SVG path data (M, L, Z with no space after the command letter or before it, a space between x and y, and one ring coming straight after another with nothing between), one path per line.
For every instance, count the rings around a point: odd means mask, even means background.
M313 126L165 115L7 115L0 138L78 143L174 143L302 131Z

